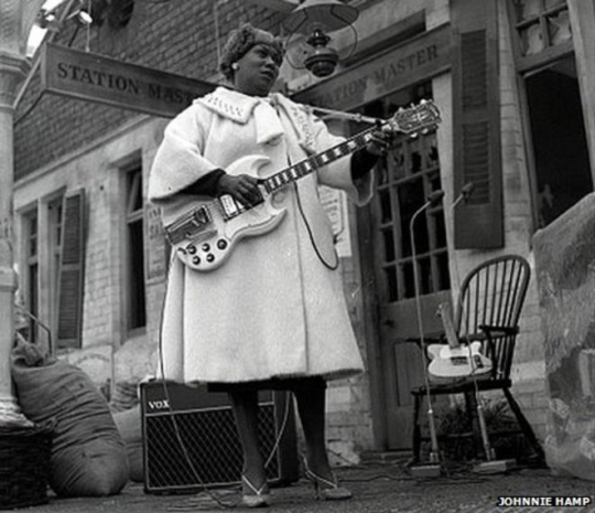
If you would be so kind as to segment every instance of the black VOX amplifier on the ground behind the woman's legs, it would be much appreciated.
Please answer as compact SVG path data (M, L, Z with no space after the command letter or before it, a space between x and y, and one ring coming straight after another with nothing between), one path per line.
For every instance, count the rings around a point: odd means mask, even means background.
M195 493L240 482L242 452L226 393L152 381L140 386L145 493ZM259 395L259 437L271 484L299 479L295 419L285 392Z

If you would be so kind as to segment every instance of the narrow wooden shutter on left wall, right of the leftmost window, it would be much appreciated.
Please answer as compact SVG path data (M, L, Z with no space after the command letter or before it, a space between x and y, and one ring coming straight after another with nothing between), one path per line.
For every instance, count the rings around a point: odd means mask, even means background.
M57 346L80 348L85 264L85 194L64 197L58 277Z

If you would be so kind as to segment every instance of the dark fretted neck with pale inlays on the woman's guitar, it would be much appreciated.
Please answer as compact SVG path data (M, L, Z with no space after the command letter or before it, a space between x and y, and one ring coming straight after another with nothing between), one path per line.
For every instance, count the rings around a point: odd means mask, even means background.
M291 165L282 171L279 171L275 174L263 180L263 186L267 192L272 193L278 189L286 185L288 183L294 182L314 171L323 165L326 165L331 162L334 162L342 157L345 157L354 151L357 151L364 148L372 137L372 131L376 127L369 128L357 133L354 137L325 150L321 153L316 153L313 157L304 159L298 162L294 165Z

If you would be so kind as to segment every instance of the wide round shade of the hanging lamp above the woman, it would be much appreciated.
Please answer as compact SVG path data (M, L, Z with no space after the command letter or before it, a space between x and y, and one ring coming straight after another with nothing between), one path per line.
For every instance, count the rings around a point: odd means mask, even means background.
M310 34L314 29L333 32L353 24L359 11L339 0L306 0L283 21L289 32Z

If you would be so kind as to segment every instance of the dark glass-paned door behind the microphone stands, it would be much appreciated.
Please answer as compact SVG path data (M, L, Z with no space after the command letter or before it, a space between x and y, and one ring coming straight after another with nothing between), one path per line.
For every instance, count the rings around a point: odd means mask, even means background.
M375 100L361 111L387 119L399 107L407 108L431 96L431 84L416 85ZM363 265L372 267L367 274L374 277L378 306L379 363L370 372L381 376L387 449L402 450L411 448L410 389L423 382L421 351L407 341L419 336L413 266L418 266L420 277L425 334L442 330L435 312L439 303L451 298L442 204L416 217L414 252L410 237L412 215L431 192L442 189L435 130L414 138L397 135L377 171L375 196L365 213L371 244L363 250Z

